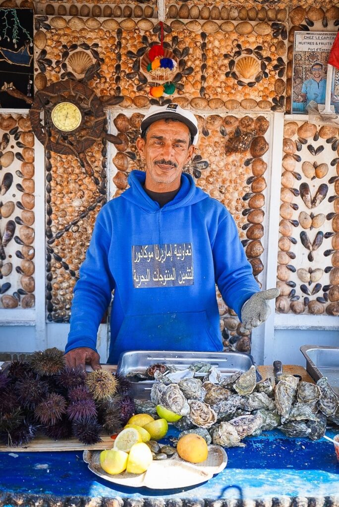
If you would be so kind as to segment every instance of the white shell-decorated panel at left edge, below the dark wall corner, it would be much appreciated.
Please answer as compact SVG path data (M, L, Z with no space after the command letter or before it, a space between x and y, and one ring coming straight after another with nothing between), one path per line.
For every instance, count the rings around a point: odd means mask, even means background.
M0 115L0 135L0 308L32 308L35 154L28 117Z

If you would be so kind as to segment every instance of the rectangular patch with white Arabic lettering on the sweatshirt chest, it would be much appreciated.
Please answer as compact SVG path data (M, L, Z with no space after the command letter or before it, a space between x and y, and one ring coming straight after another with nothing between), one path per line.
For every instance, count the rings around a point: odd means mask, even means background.
M133 287L194 284L192 243L132 246Z

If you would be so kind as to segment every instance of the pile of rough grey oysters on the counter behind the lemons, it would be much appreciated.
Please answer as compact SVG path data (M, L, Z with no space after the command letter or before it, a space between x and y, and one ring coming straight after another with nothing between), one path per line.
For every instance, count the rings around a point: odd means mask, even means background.
M156 405L182 415L174 423L182 430L179 438L194 432L208 444L235 447L244 446L245 437L274 428L288 437L318 440L327 422L339 425L339 398L325 377L316 384L293 375L257 382L254 366L223 379L217 368L201 363L177 371L155 366L151 401L135 400L135 405L152 415ZM205 376L197 378L197 372Z

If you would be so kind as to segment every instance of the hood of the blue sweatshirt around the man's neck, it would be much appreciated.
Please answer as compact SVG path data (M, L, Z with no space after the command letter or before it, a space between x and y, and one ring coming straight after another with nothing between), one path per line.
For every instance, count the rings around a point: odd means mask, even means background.
M157 202L153 201L145 192L143 185L146 179L146 172L131 171L128 176L129 189L125 190L121 197L136 204L148 213L155 213L159 211L160 206ZM182 173L181 187L176 197L165 204L161 210L169 211L184 206L190 206L199 201L207 199L208 195L201 189L196 188L194 180L190 174Z

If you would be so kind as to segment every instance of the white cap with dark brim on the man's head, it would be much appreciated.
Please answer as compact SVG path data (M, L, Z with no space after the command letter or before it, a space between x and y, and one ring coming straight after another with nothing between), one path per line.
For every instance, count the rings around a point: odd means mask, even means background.
M166 104L166 105L151 105L148 112L144 116L143 121L140 125L141 133L154 122L158 120L164 120L171 118L172 120L179 120L180 122L187 125L192 136L192 144L195 145L198 142L199 131L198 122L195 116L190 111L183 109L179 104Z

